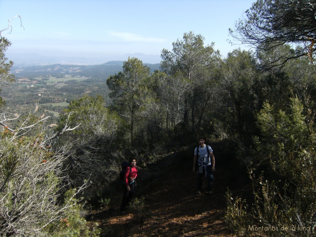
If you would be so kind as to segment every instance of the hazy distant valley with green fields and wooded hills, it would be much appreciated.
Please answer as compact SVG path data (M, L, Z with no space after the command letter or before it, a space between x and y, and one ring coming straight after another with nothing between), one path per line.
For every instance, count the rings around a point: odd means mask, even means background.
M159 64L147 65L152 72L159 69ZM39 113L51 116L49 123L56 124L59 113L69 102L85 94L100 95L108 105L111 99L106 79L118 73L122 66L123 61L101 65L12 66L15 83L2 89L1 94L6 101L3 110L25 115L38 103Z

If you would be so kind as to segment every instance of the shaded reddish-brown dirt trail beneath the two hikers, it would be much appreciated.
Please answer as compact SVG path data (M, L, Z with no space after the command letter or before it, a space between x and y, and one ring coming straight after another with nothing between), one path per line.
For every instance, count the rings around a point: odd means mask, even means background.
M155 178L149 179L147 168L140 167L135 197L145 198L142 215L135 210L121 214L122 193L118 191L111 197L112 208L96 211L89 221L99 223L100 236L233 236L224 222L225 193L229 188L238 195L242 177L233 157L222 155L219 144L211 147L216 158L213 194L196 194L191 148L170 154L151 167L150 172L160 175Z

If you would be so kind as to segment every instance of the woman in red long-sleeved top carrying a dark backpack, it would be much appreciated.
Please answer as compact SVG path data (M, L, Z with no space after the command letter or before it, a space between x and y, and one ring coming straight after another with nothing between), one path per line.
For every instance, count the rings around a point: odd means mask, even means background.
M126 167L124 179L123 179L123 199L121 204L121 212L125 213L126 206L131 202L134 190L135 190L135 179L137 177L137 166L136 159L131 158L130 165Z

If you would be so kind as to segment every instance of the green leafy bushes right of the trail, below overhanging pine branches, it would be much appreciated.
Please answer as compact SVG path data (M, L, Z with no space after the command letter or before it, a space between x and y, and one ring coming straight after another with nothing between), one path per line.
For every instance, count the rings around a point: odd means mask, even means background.
M261 136L248 163L252 205L246 212L245 201L227 195L226 221L237 235L316 235L315 117L307 104L291 101L285 111L265 104L258 115Z

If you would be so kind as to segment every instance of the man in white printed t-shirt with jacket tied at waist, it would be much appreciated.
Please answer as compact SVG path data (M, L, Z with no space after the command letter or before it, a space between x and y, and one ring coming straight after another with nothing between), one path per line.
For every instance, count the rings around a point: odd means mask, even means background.
M194 150L193 172L197 173L197 194L202 191L203 176L207 178L207 193L212 194L212 183L214 180L215 157L210 146L205 145L205 138L198 138L199 146Z

